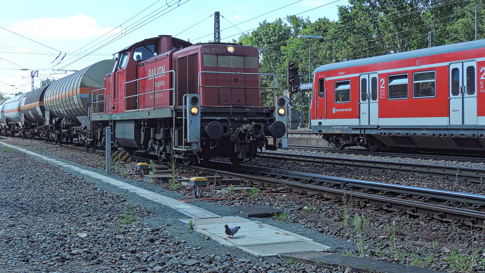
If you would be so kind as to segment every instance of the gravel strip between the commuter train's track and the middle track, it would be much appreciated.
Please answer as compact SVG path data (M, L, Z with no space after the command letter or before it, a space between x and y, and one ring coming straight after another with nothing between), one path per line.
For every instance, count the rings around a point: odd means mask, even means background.
M380 160L380 161L391 161L391 162L405 162L405 163L416 163L416 164L433 164L433 165L452 166L452 167L458 167L458 168L465 167L465 168L485 169L485 163L455 161L453 160L453 158L450 160L435 160L435 159L391 157L391 156L366 155L366 154L327 153L327 152L318 152L318 151L309 151L309 150L300 150L300 149L278 149L275 152L286 153L286 154L307 154L307 155L365 159L365 160Z

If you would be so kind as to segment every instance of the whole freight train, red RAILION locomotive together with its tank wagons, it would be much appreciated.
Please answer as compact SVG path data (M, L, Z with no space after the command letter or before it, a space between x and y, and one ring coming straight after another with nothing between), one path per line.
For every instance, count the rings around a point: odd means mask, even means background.
M259 73L257 48L161 35L2 103L2 133L144 151L185 163L286 146L288 99ZM261 77L273 105L261 106ZM1 109L1 108L0 108ZM112 129L105 136L105 129ZM12 129L12 128L15 128Z

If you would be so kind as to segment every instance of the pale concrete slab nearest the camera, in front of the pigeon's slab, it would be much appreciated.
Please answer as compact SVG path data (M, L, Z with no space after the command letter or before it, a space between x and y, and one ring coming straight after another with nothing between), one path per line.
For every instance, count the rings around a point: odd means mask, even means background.
M306 240L296 242L283 242L266 245L240 246L240 249L252 253L253 255L261 256L278 256L279 253L288 251L289 249L295 251L315 250L323 251L330 249L328 246L319 244L317 242Z

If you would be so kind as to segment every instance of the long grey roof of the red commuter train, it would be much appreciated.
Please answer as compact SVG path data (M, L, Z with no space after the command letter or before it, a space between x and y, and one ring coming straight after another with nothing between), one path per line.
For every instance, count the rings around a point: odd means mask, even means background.
M405 52L399 52L399 53L392 53L392 54L387 54L382 56L363 58L363 59L351 60L346 62L327 64L316 68L313 71L313 73L339 69L339 68L356 67L356 66L370 65L370 64L383 63L383 62L389 62L389 61L416 58L416 57L448 53L448 52L454 52L454 51L464 51L464 50L470 50L470 49L476 49L476 48L482 48L482 47L485 47L485 39L444 45L444 46L437 46L432 48L405 51Z

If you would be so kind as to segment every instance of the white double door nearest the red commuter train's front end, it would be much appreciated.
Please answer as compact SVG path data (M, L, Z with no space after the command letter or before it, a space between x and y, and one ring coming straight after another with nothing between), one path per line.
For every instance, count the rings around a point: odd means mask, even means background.
M377 125L377 73L360 75L360 125Z

